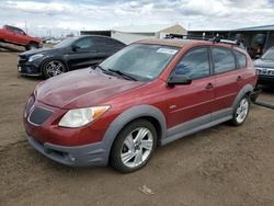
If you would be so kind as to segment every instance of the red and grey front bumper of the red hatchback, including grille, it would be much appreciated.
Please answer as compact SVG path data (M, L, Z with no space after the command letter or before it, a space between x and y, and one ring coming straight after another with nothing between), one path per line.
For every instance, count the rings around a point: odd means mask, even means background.
M34 95L27 101L23 122L28 142L49 159L67 165L106 165L111 141L103 139L105 128L89 125L62 128L59 118L66 110L46 105Z

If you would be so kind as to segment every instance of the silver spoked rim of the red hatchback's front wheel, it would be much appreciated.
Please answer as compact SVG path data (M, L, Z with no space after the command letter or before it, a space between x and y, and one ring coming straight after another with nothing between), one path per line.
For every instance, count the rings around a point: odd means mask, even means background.
M152 147L152 133L146 127L137 128L125 138L121 150L122 162L128 168L138 167L149 158Z

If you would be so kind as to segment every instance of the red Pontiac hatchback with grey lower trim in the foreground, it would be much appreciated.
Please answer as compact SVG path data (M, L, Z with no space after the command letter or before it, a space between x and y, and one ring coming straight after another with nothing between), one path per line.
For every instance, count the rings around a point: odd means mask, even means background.
M28 142L67 165L134 172L157 146L230 122L242 125L258 73L238 46L144 39L38 84L24 110Z

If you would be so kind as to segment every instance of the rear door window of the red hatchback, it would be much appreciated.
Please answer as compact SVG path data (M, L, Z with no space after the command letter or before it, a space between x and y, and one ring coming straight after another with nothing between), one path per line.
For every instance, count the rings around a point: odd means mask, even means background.
M236 69L232 52L225 48L212 48L215 73L222 73Z

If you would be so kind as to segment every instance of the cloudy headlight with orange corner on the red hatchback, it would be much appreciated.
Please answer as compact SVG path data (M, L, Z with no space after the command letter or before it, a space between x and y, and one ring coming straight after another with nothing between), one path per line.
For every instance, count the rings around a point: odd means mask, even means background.
M84 126L104 114L109 108L110 106L94 106L70 110L60 119L58 126L71 128Z

